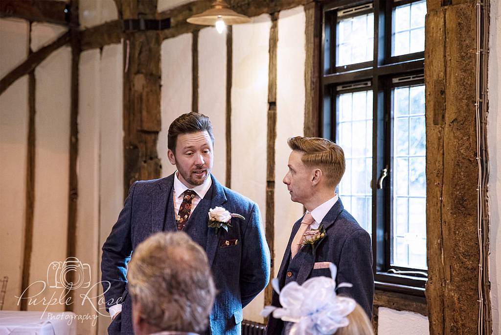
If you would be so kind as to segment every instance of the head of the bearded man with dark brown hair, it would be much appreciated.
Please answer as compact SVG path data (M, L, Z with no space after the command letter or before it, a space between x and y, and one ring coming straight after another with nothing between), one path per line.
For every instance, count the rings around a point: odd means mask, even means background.
M167 158L179 171L186 186L202 185L210 176L214 135L207 116L190 112L177 117L167 133Z

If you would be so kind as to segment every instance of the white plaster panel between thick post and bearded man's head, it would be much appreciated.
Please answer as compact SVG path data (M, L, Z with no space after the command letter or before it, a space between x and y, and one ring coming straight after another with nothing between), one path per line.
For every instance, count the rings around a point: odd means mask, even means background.
M176 171L167 159L167 132L176 117L191 111L191 34L182 34L162 42L161 130L157 152L162 177Z

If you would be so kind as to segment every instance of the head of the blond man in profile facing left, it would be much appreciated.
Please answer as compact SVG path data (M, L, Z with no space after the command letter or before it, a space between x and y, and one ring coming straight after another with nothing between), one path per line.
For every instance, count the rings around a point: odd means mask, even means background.
M311 211L322 204L322 200L334 196L336 186L345 172L343 149L320 137L296 136L289 138L287 143L292 152L289 156L289 171L283 182L287 185L291 200Z

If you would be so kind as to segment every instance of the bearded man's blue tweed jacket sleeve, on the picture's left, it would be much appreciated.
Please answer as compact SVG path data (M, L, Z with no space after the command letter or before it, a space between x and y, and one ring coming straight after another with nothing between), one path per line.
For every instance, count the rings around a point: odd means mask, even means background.
M103 285L106 310L112 305L123 303L123 294L127 285L127 263L132 254L131 217L135 182L124 203L110 235L103 245L101 257L101 283Z

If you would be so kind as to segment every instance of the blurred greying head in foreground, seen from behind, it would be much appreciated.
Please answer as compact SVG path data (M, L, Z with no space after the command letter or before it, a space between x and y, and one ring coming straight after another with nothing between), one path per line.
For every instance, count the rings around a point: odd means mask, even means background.
M184 232L141 242L127 279L136 334L206 329L216 290L204 250Z

